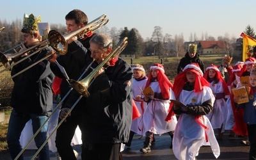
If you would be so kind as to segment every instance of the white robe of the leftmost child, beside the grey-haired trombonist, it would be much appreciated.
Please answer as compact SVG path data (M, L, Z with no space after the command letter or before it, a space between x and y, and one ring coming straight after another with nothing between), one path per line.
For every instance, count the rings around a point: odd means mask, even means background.
M142 91L145 88L145 85L147 83L147 79L143 79L141 81L134 81L132 82L132 96L133 99L136 99L137 95L141 95L141 98L143 98ZM147 103L141 99L141 102L134 100L138 110L140 111L141 116L132 120L132 125L131 125L131 131L136 132L137 134L143 135L143 122L142 122L142 117L143 117L143 111L145 111L147 107ZM141 103L143 103L143 108L141 108Z

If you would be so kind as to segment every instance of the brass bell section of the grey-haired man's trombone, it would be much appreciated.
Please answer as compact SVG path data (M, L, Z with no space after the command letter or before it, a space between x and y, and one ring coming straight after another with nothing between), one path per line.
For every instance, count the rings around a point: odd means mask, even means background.
M78 93L83 95L84 97L89 97L90 93L88 92L88 87L93 79L93 77L99 72L100 68L103 67L106 63L108 63L113 58L116 58L126 47L127 45L127 37L121 40L118 44L118 47L114 51L112 51L103 61L100 63L90 74L85 77L81 81L70 80L70 84L73 88L76 89Z

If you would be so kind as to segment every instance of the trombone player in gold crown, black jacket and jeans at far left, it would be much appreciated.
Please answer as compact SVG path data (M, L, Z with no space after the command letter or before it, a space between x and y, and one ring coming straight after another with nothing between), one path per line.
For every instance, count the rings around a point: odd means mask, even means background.
M21 29L22 40L25 42L20 51L25 51L29 47L33 47L41 42L42 36L38 31L37 23L40 22L40 17L31 14L24 15L24 22ZM38 48L35 49L35 51ZM36 54L26 58L33 51L28 51L22 55L24 60L12 68L11 75L15 75L20 70L33 65L35 62L45 58L52 51L42 49ZM35 66L29 68L19 76L13 78L14 86L12 91L11 106L13 108L7 132L7 143L12 159L18 158L18 154L22 150L20 145L20 134L26 123L31 119L33 133L45 123L47 116L52 112L52 74L50 63L48 60L42 60ZM47 122L35 136L35 144L40 148L47 139ZM19 159L23 159L22 154ZM39 159L49 160L49 145L45 146L39 153Z

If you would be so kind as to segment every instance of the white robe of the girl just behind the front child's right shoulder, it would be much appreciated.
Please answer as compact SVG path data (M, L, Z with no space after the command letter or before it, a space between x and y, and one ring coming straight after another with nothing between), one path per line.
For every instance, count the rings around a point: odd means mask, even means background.
M214 81L212 81L210 84L210 88L213 94L224 93L221 81L216 84L214 84ZM216 99L212 111L208 115L206 115L207 118L209 118L213 129L220 129L221 125L223 125L221 132L225 131L227 113L228 108L225 99Z

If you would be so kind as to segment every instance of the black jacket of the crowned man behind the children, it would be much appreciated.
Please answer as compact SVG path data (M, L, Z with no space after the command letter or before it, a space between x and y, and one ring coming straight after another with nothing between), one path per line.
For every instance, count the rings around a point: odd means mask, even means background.
M196 52L196 55L193 58L191 58L189 56L189 53L186 52L185 56L183 58L181 58L181 60L180 60L179 66L177 68L177 74L182 72L182 70L186 67L186 65L188 65L190 63L198 63L199 67L201 68L202 72L204 73L204 63L202 60L200 60L199 54Z

